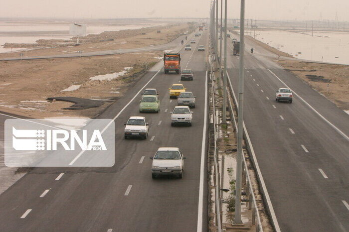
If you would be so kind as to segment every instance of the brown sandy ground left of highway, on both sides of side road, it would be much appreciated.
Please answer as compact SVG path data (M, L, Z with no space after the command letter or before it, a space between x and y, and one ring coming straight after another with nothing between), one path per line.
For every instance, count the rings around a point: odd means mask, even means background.
M119 44L105 42L88 42L79 47L91 48L90 51L144 47L150 44L167 43L179 34L188 31L188 24L125 30L116 33L120 37ZM145 36L139 35L146 30ZM102 33L102 34L104 34ZM127 37L127 33L130 34ZM100 34L101 35L101 34ZM104 36L104 35L103 35ZM98 37L98 36L97 36ZM121 44L121 41L127 43ZM117 41L114 41L117 43ZM67 49L67 48L63 48ZM76 49L73 47L72 49ZM31 51L32 56L56 54L58 48ZM14 54L0 54L11 56ZM163 51L128 53L110 56L94 56L65 59L43 59L0 62L0 111L32 118L54 116L95 117L107 108L113 99L121 97L134 80L163 56ZM113 80L91 80L91 77L125 71L132 67L124 76ZM81 85L74 91L61 92L72 86ZM77 97L100 99L106 101L102 107L86 110L62 110L73 105L66 102L47 102L48 97Z

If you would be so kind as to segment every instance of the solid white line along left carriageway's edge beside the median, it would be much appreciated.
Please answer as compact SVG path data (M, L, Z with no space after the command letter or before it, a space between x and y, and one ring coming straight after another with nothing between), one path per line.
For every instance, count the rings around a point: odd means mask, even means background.
M205 145L206 145L206 124L207 124L207 71L205 77L205 109L203 116L202 142L201 142L201 160L200 160L200 183L199 183L199 203L197 209L197 232L202 232L202 213L203 213L203 183L205 168Z

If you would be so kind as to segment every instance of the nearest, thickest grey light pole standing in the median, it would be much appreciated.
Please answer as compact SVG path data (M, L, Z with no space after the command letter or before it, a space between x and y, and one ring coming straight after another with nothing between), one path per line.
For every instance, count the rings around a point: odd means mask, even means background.
M241 179L242 179L242 131L244 107L244 52L245 52L245 0L241 0L240 9L240 59L239 59L239 108L237 117L237 159L236 159L236 191L235 191L235 224L241 224Z

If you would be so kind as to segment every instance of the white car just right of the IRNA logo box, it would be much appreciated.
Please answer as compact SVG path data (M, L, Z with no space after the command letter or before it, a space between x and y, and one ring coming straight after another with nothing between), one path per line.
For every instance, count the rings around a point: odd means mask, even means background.
M145 117L131 116L124 125L126 125L124 130L125 139L130 137L142 137L147 139L149 124Z

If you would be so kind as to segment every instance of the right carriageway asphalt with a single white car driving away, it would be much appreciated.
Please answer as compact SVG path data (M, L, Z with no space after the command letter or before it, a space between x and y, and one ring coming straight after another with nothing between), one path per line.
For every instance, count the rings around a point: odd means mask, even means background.
M239 56L228 41L237 96ZM276 225L285 232L349 231L349 115L273 58L245 39L244 122ZM293 90L292 104L275 101L280 87Z

